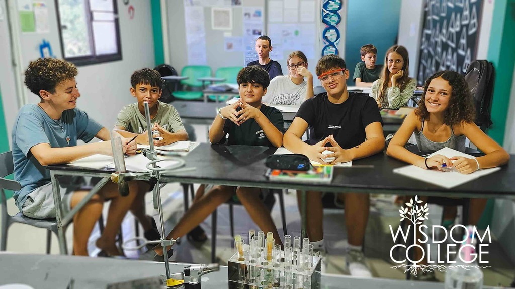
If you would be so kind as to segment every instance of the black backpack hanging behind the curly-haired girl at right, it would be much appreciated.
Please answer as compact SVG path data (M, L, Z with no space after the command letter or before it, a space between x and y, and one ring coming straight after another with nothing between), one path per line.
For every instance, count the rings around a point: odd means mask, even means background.
M476 107L475 124L485 131L492 125L490 110L493 95L494 68L487 60L474 60L467 67L465 81L470 88Z

